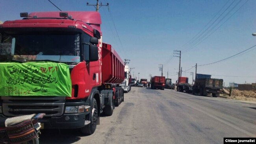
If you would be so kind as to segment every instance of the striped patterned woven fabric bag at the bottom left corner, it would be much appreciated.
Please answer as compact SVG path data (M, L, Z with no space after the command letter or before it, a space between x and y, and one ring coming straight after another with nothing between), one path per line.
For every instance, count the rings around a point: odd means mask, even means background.
M33 138L38 138L31 119L25 120L19 124L6 127L6 132L12 144L27 142Z

